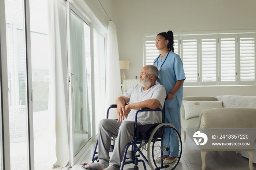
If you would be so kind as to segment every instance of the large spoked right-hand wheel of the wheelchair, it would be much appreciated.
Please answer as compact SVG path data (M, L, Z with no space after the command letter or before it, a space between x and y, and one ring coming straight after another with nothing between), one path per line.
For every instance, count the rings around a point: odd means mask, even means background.
M175 169L180 162L181 152L181 137L174 125L170 123L159 124L148 139L147 158L151 169ZM164 164L163 155L177 157L177 160L169 164ZM157 158L160 158L161 161L158 160L156 162Z

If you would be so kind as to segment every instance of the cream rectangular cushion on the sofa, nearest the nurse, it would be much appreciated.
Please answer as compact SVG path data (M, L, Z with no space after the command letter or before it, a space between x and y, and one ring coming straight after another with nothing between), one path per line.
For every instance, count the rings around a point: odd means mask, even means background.
M183 100L185 109L185 119L199 117L200 113L206 109L222 108L222 101L186 101Z

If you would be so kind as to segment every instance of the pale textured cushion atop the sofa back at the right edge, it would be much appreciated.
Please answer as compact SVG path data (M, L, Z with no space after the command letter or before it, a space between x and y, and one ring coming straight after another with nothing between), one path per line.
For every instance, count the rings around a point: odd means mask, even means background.
M223 101L223 107L256 108L256 96L225 95L216 98Z

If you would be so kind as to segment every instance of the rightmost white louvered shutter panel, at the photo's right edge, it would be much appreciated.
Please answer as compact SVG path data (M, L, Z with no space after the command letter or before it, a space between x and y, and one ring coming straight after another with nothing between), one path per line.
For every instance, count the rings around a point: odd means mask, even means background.
M253 36L240 38L240 80L255 81L255 37Z

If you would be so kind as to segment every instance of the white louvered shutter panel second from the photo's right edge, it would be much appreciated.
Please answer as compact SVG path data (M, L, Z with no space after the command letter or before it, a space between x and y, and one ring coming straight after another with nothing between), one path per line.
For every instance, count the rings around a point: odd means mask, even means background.
M236 81L236 38L221 38L220 46L221 81Z

